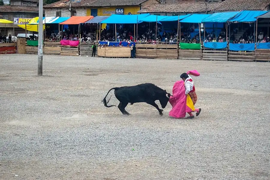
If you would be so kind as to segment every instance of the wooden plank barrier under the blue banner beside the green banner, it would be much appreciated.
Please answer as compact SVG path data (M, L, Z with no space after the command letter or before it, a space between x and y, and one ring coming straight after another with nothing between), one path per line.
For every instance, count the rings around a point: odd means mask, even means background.
M228 49L209 49L203 47L202 60L228 61Z

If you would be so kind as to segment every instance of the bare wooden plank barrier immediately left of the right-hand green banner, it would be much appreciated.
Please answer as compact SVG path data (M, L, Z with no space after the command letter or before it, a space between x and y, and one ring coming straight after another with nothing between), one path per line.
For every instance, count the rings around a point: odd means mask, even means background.
M177 44L157 44L157 58L177 59Z

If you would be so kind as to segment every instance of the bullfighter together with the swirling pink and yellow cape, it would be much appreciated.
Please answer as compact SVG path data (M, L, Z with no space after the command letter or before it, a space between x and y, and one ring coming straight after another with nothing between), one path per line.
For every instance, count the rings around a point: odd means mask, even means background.
M189 117L187 118L193 119L194 115L192 112L196 112L196 116L199 116L201 112L201 108L194 108L197 101L197 95L195 92L193 79L190 77L190 75L199 76L200 74L196 70L183 73L180 76L182 80L175 82L173 85L173 96L171 96L169 100L173 107L169 113L170 117L184 118L186 113L188 113Z

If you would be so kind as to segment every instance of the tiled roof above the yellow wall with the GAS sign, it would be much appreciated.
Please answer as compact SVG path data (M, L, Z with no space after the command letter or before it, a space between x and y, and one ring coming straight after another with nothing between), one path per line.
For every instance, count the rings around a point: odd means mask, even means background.
M71 7L111 7L140 5L146 0L71 0ZM60 0L44 8L69 7L70 0Z

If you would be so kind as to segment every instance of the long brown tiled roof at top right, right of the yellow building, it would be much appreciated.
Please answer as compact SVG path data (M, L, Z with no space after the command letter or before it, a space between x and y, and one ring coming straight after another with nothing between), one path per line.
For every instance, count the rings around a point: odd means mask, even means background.
M207 11L265 10L270 0L225 0L207 3ZM200 13L205 3L152 4L138 13Z

